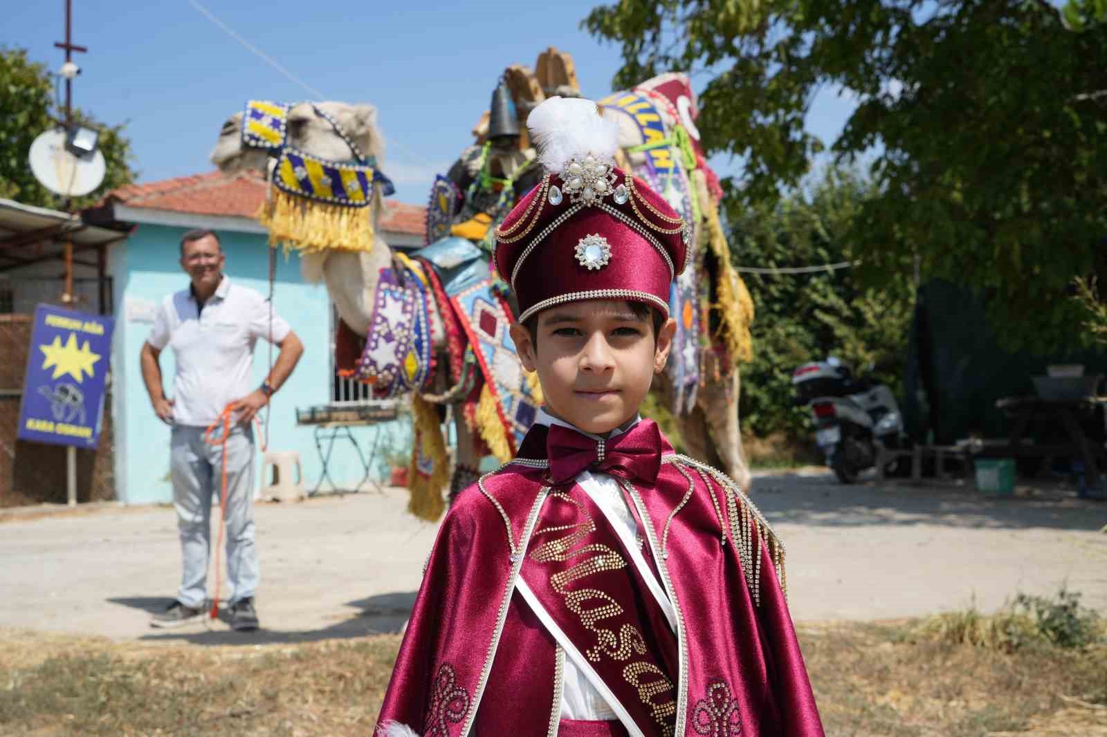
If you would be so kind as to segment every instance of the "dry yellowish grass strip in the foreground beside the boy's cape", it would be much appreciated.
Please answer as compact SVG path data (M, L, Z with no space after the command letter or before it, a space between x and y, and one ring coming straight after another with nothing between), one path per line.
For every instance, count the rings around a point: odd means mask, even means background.
M832 737L1107 736L1103 646L1004 652L918 622L808 624L799 635ZM0 735L368 735L397 646L0 633Z

